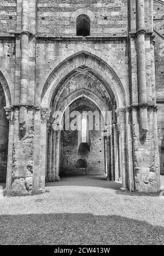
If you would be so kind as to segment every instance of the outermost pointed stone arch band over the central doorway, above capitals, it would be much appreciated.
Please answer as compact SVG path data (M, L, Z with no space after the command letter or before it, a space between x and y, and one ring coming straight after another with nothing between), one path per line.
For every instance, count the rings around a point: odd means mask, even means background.
M83 66L89 67L93 74L106 82L106 89L109 94L111 92L114 94L118 107L126 106L125 91L114 69L99 57L86 51L74 54L61 62L49 75L46 83L44 85L42 83L40 84L38 93L42 92L40 95L41 106L49 107L51 97L61 80L69 77L75 69Z

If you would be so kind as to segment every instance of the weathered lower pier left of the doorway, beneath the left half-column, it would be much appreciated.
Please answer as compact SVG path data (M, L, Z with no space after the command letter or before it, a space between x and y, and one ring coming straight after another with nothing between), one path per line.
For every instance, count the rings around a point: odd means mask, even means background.
M27 126L21 130L19 126L19 111L14 111L14 141L13 141L13 170L11 194L28 195L32 189L33 178L33 137L34 113L33 109L27 110ZM19 189L19 190L18 190Z

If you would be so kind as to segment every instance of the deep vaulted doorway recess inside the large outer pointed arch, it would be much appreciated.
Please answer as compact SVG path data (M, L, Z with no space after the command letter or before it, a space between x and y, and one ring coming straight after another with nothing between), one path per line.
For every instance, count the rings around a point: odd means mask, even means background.
M48 125L48 181L85 174L121 178L116 103L106 86L87 67L75 69L58 84ZM79 159L86 161L85 167L77 165Z

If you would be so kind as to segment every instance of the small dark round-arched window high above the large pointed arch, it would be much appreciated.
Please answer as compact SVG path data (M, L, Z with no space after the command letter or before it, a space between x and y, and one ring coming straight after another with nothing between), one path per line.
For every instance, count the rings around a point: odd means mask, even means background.
M90 18L85 14L77 18L77 36L90 36Z

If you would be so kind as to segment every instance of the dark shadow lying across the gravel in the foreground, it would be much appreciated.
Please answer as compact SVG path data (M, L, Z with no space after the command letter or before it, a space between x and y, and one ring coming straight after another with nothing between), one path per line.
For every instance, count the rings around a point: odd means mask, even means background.
M161 226L116 215L4 215L0 222L1 245L163 245L164 239Z

